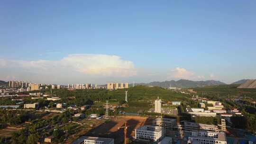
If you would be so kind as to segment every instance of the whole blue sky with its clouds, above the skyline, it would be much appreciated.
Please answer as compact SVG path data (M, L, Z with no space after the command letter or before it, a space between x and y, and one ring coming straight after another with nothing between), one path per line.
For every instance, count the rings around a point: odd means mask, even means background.
M1 0L0 79L255 79L255 8L255 0Z

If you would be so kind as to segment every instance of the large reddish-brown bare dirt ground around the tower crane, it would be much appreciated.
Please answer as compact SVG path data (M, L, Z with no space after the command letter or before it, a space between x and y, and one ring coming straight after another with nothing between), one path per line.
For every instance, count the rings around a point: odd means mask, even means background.
M114 138L116 144L122 144L124 140L124 128L119 128L125 125L127 121L128 129L127 136L132 138L134 136L134 130L143 125L151 125L152 119L148 117L139 116L122 116L111 118L110 121L101 124L88 132L87 136L97 136L97 137L108 137Z

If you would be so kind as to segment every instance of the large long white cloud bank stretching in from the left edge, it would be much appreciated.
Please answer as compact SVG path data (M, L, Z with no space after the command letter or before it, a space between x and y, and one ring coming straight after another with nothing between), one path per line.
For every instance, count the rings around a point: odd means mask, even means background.
M20 68L32 73L52 73L53 75L60 74L60 72L110 77L130 77L137 74L133 62L124 61L116 55L106 54L70 54L58 61L1 59L0 66L2 68ZM68 74L72 75L71 73Z

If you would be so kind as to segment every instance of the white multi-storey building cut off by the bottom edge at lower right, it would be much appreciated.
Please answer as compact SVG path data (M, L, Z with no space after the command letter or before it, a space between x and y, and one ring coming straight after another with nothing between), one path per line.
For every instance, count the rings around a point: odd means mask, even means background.
M209 131L193 131L188 144L227 144L225 133Z

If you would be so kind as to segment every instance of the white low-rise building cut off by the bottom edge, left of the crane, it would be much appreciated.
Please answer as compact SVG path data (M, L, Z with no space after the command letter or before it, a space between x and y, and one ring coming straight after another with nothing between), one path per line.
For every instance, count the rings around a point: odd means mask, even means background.
M114 144L113 138L82 136L73 141L71 144Z

